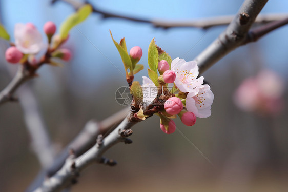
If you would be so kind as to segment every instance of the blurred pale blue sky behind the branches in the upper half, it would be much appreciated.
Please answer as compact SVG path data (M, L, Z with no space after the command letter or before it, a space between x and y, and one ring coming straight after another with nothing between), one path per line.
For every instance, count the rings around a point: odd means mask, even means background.
M2 0L1 17L4 26L11 36L15 23L34 23L40 31L45 22L53 21L57 26L74 10L63 2L51 6L50 1L38 0ZM242 1L201 0L201 1L91 1L96 7L119 14L140 18L187 19L219 15L235 14ZM288 2L269 1L262 13L287 12ZM169 30L153 28L150 24L135 23L117 18L102 20L98 14L91 15L88 20L71 31L71 39L67 43L74 51L70 67L76 71L75 78L80 82L95 82L101 78L122 78L124 68L120 56L111 40L109 29L114 39L120 41L125 36L128 49L140 46L143 57L139 63L147 68L147 50L150 41L155 37L157 45L167 51L172 59L183 57L192 60L207 47L225 27L211 28L208 31L193 28L174 28ZM282 27L265 36L257 43L264 65L273 68L283 76L288 71L288 40L285 38L288 27ZM88 41L88 40L89 41ZM96 47L96 48L95 48ZM239 51L239 50L237 50ZM241 50L240 50L241 51ZM186 53L186 54L185 54ZM113 63L113 65L111 64ZM217 64L218 65L218 64ZM221 67L221 65L219 65ZM43 70L40 73L44 73ZM49 72L44 75L49 76ZM140 80L146 75L143 70L138 75ZM137 80L137 79L136 79ZM125 81L125 80L124 80Z

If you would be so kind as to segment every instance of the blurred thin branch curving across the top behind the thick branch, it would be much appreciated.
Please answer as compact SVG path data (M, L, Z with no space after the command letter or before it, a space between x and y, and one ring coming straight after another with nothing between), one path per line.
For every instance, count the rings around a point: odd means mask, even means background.
M74 7L75 10L83 6L84 4L90 4L89 1L81 2L77 0L52 0L52 4L55 4L56 2L66 2ZM163 20L163 19L143 19L143 18L137 18L132 16L124 16L120 14L114 14L111 12L100 10L99 8L96 8L94 5L93 12L101 14L103 18L120 18L122 20L129 20L134 22L141 22L141 23L150 23L154 27L160 27L164 29L173 28L173 27L195 27L195 28L203 28L208 29L210 27L216 27L216 26L222 26L222 25L228 25L233 20L235 15L225 15L225 16L216 16L211 18L200 18L195 20ZM273 21L283 20L284 18L287 18L287 13L282 14L263 14L258 15L255 22L253 24L265 24L270 23Z

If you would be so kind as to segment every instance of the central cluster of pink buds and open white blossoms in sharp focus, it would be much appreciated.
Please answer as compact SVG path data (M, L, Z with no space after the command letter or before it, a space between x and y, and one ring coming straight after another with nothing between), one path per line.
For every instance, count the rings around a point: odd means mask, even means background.
M186 62L183 59L176 58L172 61L171 67L166 60L158 63L158 82L163 88L173 83L172 94L166 94L169 97L164 103L164 111L159 112L161 117L160 128L165 133L173 133L176 129L175 122L172 120L178 115L184 125L192 126L196 123L196 117L205 118L211 114L211 104L214 95L209 85L203 84L203 77L197 78L198 67L195 62ZM148 79L148 80L147 80ZM146 83L144 83L144 80ZM155 84L147 77L143 77L143 85L155 87ZM156 89L155 89L156 90ZM164 91L163 91L164 92ZM165 93L163 93L165 94ZM151 95L151 93L150 93ZM153 101L157 92L151 98L144 98L147 101Z

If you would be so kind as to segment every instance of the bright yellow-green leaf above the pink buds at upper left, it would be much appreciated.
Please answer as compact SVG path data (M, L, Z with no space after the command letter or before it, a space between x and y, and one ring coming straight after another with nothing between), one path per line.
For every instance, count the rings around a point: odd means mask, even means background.
M86 20L86 18L90 15L92 12L92 6L89 4L86 4L78 9L77 12L70 15L62 24L60 27L60 38L66 39L68 36L69 31L75 27L77 24L83 22Z

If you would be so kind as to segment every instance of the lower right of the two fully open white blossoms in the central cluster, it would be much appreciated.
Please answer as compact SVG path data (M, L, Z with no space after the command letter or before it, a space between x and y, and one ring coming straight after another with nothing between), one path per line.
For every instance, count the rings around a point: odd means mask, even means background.
M207 118L211 115L214 94L210 90L209 85L200 85L195 90L188 93L186 108L188 111L193 112L196 117Z

